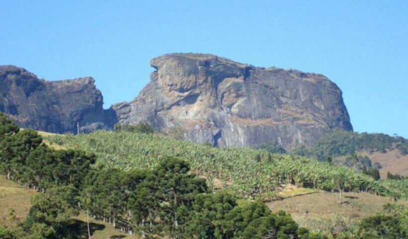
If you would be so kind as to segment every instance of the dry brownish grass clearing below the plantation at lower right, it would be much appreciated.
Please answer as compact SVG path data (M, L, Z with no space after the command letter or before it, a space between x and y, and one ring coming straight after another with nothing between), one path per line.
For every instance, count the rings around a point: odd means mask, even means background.
M362 217L375 215L390 203L386 197L368 193L343 193L342 203L338 196L338 193L319 192L273 201L268 206L273 212L288 212L301 227L330 231L339 225L356 225ZM399 204L408 206L408 201Z

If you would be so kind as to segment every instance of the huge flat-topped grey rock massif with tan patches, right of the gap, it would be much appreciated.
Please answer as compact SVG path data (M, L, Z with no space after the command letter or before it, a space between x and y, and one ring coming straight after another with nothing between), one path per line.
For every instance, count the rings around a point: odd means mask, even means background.
M121 123L219 146L277 140L313 143L329 128L352 130L340 89L325 76L260 68L204 54L151 60L151 82L112 106Z

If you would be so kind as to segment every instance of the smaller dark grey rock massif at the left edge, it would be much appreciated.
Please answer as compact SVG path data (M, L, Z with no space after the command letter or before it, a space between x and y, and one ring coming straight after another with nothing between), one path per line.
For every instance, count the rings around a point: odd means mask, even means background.
M114 113L102 109L102 94L91 77L44 81L23 68L0 66L0 111L20 127L48 132L108 129Z

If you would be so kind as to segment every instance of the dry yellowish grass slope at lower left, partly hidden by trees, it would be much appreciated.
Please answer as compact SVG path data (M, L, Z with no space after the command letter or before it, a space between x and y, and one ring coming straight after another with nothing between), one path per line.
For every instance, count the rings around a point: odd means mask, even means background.
M21 223L27 216L30 210L31 197L37 192L31 189L24 188L15 182L9 181L0 175L0 224L6 225L7 227L15 227L18 223ZM12 208L15 211L15 219L8 220L8 208ZM74 218L77 220L79 229L82 231L84 238L88 238L88 231L86 225L86 214L81 213L78 217ZM127 234L121 233L119 230L113 228L111 224L103 223L90 218L91 232L93 239L109 239L109 238L133 238L128 237Z

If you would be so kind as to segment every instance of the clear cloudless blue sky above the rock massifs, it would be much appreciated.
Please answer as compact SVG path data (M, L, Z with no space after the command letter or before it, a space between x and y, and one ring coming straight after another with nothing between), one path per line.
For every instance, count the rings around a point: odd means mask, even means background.
M408 137L408 1L0 0L0 64L92 76L104 108L149 82L149 61L212 53L322 73L354 129Z

